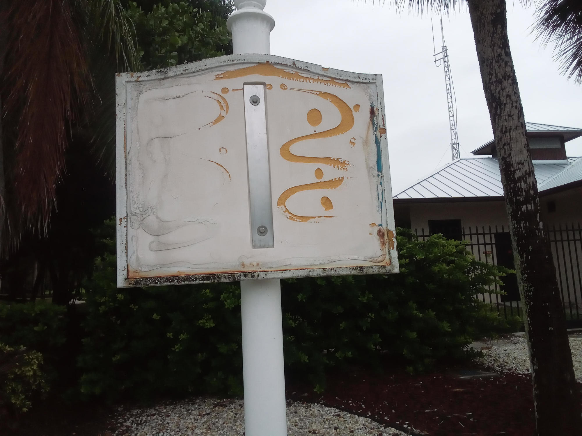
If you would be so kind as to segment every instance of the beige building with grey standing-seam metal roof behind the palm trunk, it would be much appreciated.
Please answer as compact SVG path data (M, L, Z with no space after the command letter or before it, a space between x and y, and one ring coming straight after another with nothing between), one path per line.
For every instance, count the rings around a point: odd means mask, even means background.
M567 157L565 149L567 141L582 136L582 128L526 123L526 130L541 221L551 240L565 309L582 325L582 157ZM468 241L476 258L513 269L495 141L473 155L448 163L394 195L396 226L411 228L421 237L441 233ZM503 280L507 295L501 301L495 294L482 299L503 310L509 304L513 310L519 301L517 281L514 276Z

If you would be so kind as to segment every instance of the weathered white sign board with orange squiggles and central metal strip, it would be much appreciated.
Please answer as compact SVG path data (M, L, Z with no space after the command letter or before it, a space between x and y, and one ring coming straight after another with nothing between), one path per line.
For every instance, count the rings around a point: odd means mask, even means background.
M398 272L381 76L231 55L116 80L118 286Z

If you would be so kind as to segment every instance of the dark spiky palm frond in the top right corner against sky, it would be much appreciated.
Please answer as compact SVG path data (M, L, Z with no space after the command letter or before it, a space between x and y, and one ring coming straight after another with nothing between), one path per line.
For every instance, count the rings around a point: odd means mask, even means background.
M546 0L536 14L537 37L543 45L553 42L562 73L582 83L582 1Z

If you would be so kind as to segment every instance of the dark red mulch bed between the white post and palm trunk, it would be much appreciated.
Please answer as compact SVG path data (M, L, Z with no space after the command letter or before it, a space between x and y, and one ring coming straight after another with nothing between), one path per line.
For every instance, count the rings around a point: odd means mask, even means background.
M288 398L320 402L407 431L430 435L534 434L530 376L462 379L454 371L411 376L403 370L376 375L361 369L329 374L327 389L294 385ZM307 394L307 395L306 395ZM413 434L417 434L413 431Z

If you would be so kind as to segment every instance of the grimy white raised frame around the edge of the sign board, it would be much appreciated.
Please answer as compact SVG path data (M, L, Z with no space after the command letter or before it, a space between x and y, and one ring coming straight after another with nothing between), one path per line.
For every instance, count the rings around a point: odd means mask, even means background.
M386 259L382 265L366 266L338 266L338 267L285 267L278 270L241 270L227 273L200 273L187 275L161 275L147 277L128 277L129 258L127 252L128 238L128 212L127 212L127 132L126 132L126 108L131 105L127 85L137 81L159 80L167 77L189 76L206 70L216 70L225 67L225 70L236 69L242 64L251 65L259 63L272 63L279 67L288 66L294 70L304 70L308 77L319 76L330 80L352 81L356 83L375 83L378 95L375 97L376 110L371 114L370 120L374 128L375 143L377 145L377 162L379 176L378 194L381 195L382 228L384 229L384 244L386 247ZM308 80L307 80L308 81ZM364 109L365 110L365 109ZM386 141L386 123L384 110L384 95L382 76L379 74L350 73L331 68L323 68L320 65L301 62L299 60L281 58L273 55L229 55L219 58L205 59L198 62L154 70L143 73L118 73L116 76L116 165L117 165L117 284L118 287L143 287L148 285L170 285L190 283L211 283L219 281L239 281L248 279L268 278L295 278L316 276L339 276L350 274L385 274L398 273L398 255L396 251L395 223L392 205L392 188L390 183L390 171L388 160L388 145ZM241 132L244 135L244 132Z

